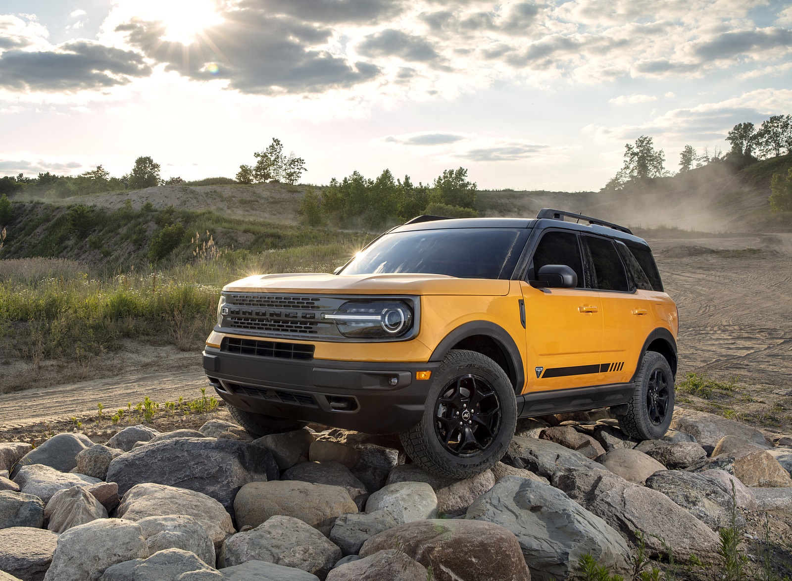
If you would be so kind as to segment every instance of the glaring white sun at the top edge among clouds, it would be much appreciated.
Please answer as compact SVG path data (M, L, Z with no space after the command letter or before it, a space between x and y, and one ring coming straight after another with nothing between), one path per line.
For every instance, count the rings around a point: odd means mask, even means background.
M204 28L223 22L215 0L143 0L135 7L143 19L165 25L166 42L192 44Z

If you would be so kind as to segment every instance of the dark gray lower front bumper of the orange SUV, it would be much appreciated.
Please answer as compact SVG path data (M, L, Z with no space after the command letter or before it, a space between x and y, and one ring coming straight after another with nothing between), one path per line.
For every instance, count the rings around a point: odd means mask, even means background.
M424 414L430 380L417 371L440 363L301 361L206 347L209 383L235 408L368 434L394 434Z

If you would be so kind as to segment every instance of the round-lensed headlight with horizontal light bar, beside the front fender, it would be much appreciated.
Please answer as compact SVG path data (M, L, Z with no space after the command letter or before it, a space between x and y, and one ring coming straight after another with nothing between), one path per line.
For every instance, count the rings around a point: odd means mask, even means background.
M395 339L413 328L413 309L402 301L351 301L322 319L335 322L343 336Z

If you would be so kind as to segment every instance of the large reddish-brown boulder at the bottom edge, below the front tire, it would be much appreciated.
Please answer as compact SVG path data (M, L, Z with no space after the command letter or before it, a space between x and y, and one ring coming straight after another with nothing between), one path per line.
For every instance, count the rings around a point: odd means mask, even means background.
M509 530L492 522L454 518L407 522L376 534L360 548L366 558L396 549L432 568L437 581L530 581L523 553Z

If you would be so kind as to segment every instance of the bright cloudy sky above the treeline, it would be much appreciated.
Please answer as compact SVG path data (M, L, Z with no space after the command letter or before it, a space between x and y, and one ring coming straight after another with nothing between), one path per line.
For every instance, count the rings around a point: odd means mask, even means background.
M0 176L234 177L277 138L303 183L596 191L641 135L676 172L790 112L792 2L0 2Z

